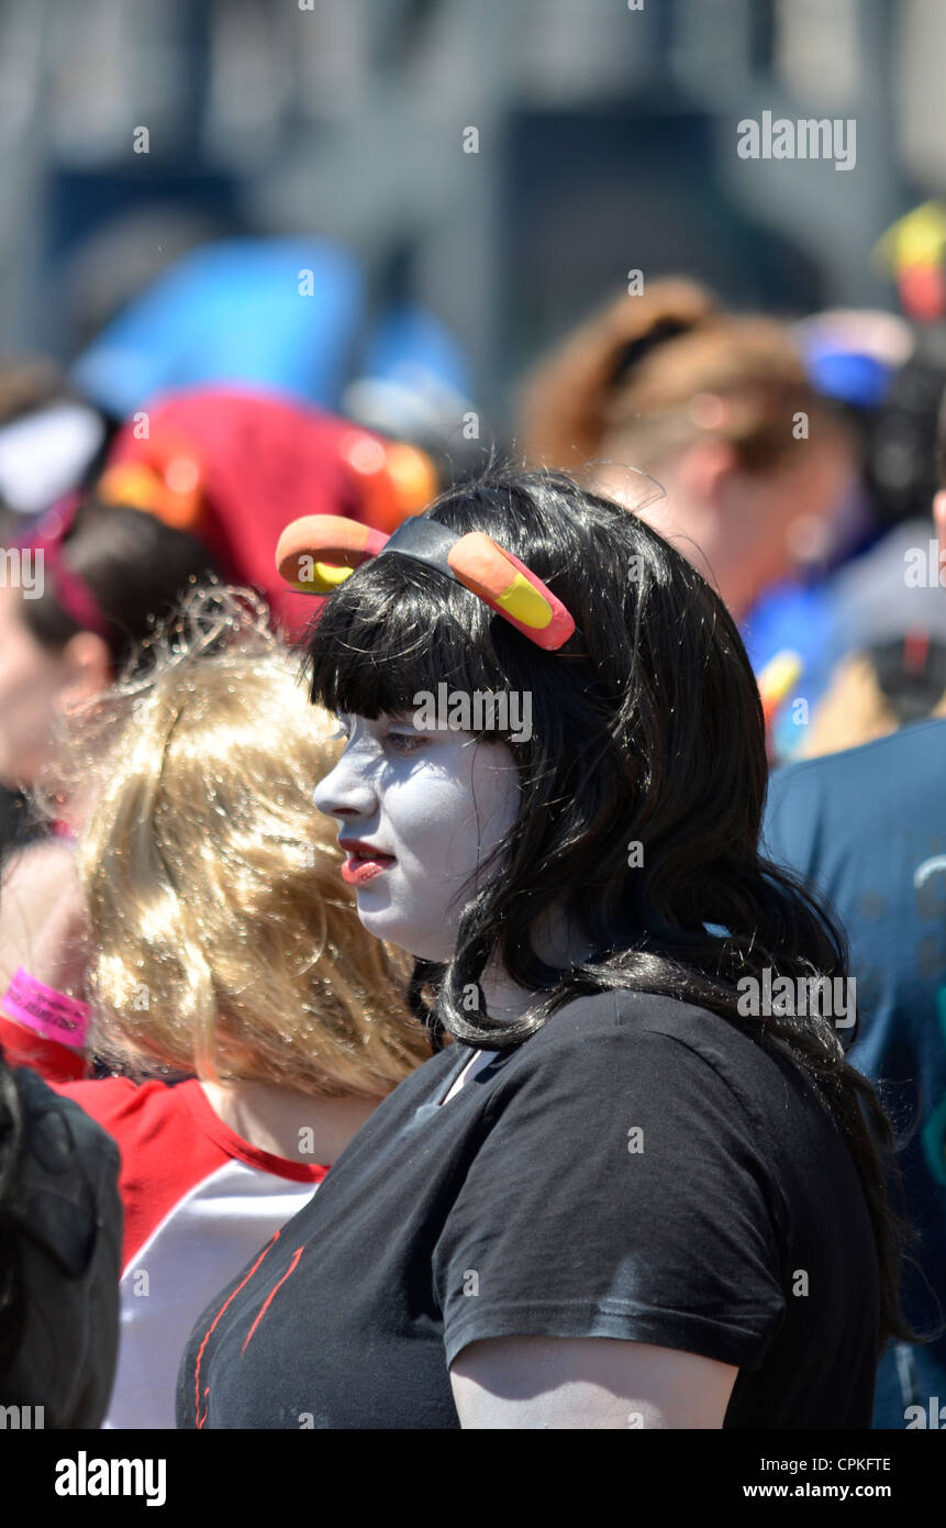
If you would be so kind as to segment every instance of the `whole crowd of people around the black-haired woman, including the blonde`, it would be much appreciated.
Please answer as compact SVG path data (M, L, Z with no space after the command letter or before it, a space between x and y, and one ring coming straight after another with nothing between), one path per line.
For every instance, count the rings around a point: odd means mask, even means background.
M915 1236L903 1305L925 1340L888 1345L874 1426L946 1395L940 296L914 280L900 313L789 321L648 277L550 336L495 419L434 315L365 333L330 249L231 240L173 263L67 368L0 365L0 1401L46 1426L173 1426L209 1297L431 1054L312 804L338 744L293 660L312 602L274 558L301 516L391 535L497 466L624 506L734 617L767 851L844 921L848 1060L891 1111ZM321 1135L293 1175L278 1161L312 1097ZM193 1280L168 1303L154 1245L174 1216Z

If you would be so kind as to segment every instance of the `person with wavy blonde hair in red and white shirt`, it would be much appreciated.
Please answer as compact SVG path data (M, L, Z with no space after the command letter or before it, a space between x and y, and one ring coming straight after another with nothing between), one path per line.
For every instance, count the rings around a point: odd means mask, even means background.
M87 1050L125 1074L60 1091L122 1155L118 1427L173 1426L197 1313L429 1054L312 801L335 724L264 607L199 591L147 659L73 727L53 810L78 804L83 895L64 889L0 1021L8 1057L23 1034L55 1065L49 1024L84 1013L60 989L89 963Z

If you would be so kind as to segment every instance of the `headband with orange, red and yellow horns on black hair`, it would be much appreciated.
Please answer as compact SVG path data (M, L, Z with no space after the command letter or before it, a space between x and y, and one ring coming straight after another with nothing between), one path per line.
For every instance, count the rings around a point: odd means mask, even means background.
M425 515L411 515L391 536L339 515L306 515L280 536L277 568L303 594L330 594L368 558L390 552L462 584L539 648L556 651L576 630L549 585L492 536L460 536Z

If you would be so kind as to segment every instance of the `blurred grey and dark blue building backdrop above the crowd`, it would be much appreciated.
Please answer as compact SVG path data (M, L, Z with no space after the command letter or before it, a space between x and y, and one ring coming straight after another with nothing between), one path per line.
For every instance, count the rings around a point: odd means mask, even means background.
M234 234L338 243L488 410L628 267L886 306L870 251L944 189L944 44L938 0L3 0L0 342L70 359ZM741 160L763 110L856 118L856 167Z

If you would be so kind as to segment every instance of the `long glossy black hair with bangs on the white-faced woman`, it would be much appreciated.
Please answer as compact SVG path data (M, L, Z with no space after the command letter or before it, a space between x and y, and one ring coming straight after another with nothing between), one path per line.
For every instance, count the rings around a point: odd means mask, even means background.
M443 681L468 695L532 697L527 740L512 727L480 733L513 752L521 805L469 888L452 958L417 963L414 1010L457 1039L501 1048L576 996L625 987L711 1008L787 1054L850 1144L877 1239L883 1331L909 1339L902 1232L885 1189L893 1131L871 1083L845 1060L830 1019L740 1012L744 976L847 976L847 941L828 909L760 854L764 721L729 611L637 515L564 474L495 474L426 515L492 536L549 584L579 631L543 652L460 584L399 556L364 564L321 602L312 698L332 711L410 714L414 695ZM587 932L593 955L569 967L539 960L530 929L552 908ZM509 1022L489 1016L481 989L474 1012L463 1002L491 958L536 993Z

